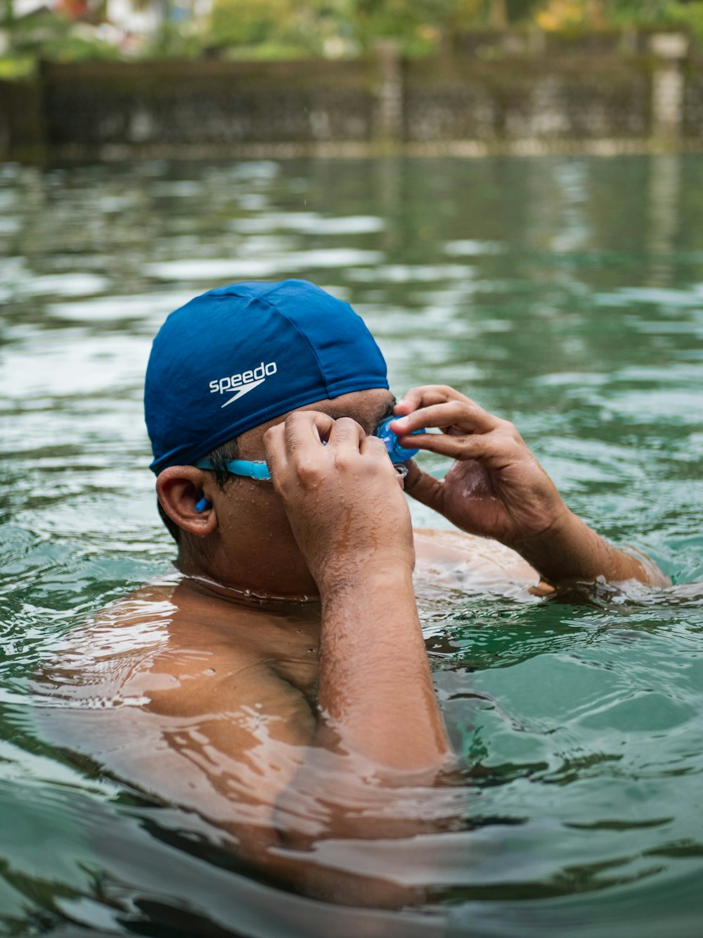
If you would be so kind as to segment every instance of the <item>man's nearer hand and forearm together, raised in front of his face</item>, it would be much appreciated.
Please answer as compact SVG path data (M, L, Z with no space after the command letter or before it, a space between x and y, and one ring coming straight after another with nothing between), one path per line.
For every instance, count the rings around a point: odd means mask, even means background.
M412 591L410 512L385 448L350 418L314 412L265 444L322 597L315 742L336 737L381 774L431 776L449 745Z

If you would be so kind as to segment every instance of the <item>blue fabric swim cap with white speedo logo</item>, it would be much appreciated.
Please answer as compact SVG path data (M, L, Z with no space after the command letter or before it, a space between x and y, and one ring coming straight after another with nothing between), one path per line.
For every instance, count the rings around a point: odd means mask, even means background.
M159 473L314 401L388 387L348 303L307 280L232 283L175 310L152 345L144 416Z

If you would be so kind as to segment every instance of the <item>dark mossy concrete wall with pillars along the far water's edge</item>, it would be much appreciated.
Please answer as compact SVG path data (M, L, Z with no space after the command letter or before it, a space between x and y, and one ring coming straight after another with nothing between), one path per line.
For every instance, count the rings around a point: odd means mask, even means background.
M352 62L45 65L0 83L0 158L703 144L703 63L685 38L567 55L536 35L419 61L386 44Z

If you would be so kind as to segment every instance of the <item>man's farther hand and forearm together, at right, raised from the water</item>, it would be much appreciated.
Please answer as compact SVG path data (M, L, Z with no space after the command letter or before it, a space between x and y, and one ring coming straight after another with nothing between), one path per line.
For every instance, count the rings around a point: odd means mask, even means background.
M470 534L493 537L521 554L546 582L667 579L644 556L616 550L571 512L512 423L486 413L452 387L415 387L391 424L401 446L456 461L443 479L414 463L406 489ZM409 434L423 427L440 433Z

